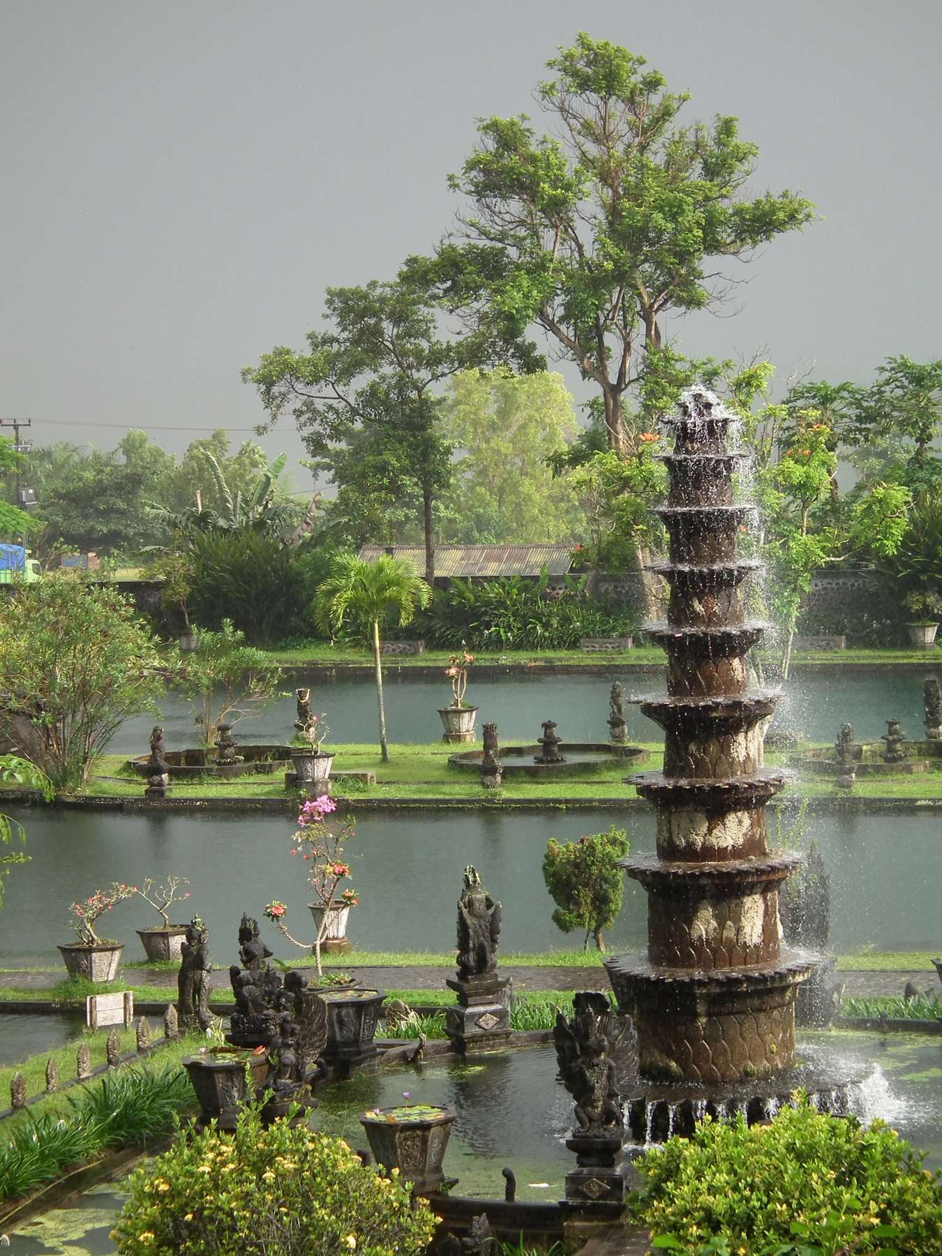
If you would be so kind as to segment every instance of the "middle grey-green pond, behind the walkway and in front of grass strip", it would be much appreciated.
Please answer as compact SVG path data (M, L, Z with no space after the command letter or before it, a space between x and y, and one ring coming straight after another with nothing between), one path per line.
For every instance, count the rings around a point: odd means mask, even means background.
M8 883L0 912L4 967L59 963L55 946L70 939L69 904L112 880L136 883L148 874L190 878L191 897L180 914L198 912L206 919L217 963L235 958L241 913L261 917L274 898L288 903L295 937L311 936L304 865L290 855L288 816L11 810L26 826L31 862L13 869ZM774 815L770 823L774 833ZM816 839L831 874L835 950L939 946L937 816L823 815L806 823L806 836ZM348 847L360 898L350 938L369 951L450 950L462 870L472 863L504 903L505 951L579 946L580 937L560 933L550 919L554 904L543 882L543 855L550 838L571 842L612 824L627 829L633 850L653 849L653 811L365 813ZM133 931L157 923L151 914L132 899L102 922L104 932L127 943L126 958L143 957ZM261 923L279 956L300 955L274 926ZM609 947L642 948L646 929L644 896L627 882L622 913L607 934Z

